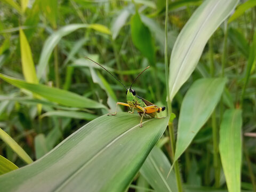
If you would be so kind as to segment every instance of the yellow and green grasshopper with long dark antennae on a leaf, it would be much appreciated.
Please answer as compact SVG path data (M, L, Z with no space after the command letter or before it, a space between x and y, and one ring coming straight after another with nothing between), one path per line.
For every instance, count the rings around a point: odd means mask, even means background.
M87 57L85 57L87 58ZM90 58L87 58L89 60L91 60L92 62L94 62L95 64L99 65L100 67L102 67L103 69L105 69L105 67L101 66L99 63L93 61ZM148 69L149 66L146 68ZM116 112L115 113L109 113L108 115L116 115L117 114L117 106L118 105L123 105L123 106L127 106L130 107L130 109L132 109L132 111L128 111L129 113L133 114L134 113L134 109L136 109L138 111L138 113L141 116L140 119L140 127L142 127L142 119L143 117L146 115L148 115L149 117L157 117L157 113L159 113L160 111L164 111L165 107L157 107L156 105L154 105L153 103L147 101L146 99L143 99L141 97L139 97L136 92L132 89L132 85L133 83L137 80L137 78L146 70L144 69L143 71L141 71L141 73L133 80L131 86L129 89L126 88L126 86L113 74L111 74L107 69L105 69L110 75L112 75L114 78L117 79L118 82L120 82L126 89L126 100L127 103L124 102L117 102L116 103ZM163 117L162 117L163 118Z

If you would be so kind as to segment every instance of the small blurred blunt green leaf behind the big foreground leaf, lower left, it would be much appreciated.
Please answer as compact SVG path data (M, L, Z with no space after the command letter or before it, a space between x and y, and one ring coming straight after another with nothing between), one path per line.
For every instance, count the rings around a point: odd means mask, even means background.
M48 152L46 139L44 134L38 134L35 137L35 152L36 152L36 159L43 157Z

